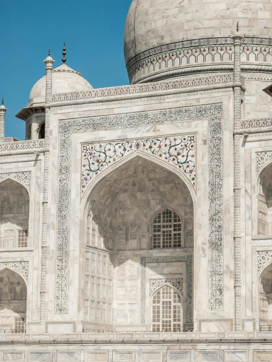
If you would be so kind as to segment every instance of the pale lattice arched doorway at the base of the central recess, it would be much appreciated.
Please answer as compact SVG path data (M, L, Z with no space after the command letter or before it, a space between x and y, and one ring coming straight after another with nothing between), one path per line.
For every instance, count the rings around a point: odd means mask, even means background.
M177 332L181 330L181 300L179 294L165 285L152 298L152 331Z

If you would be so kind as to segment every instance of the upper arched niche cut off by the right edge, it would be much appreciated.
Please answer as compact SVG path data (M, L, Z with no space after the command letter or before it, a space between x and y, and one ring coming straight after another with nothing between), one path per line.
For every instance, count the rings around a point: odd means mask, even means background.
M272 234L272 163L265 166L259 176L258 234Z

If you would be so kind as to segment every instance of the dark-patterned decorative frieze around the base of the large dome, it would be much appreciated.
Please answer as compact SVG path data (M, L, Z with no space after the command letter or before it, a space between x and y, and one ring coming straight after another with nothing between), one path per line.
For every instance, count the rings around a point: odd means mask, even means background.
M272 39L244 38L241 61L272 65ZM130 83L152 81L180 74L197 73L196 64L211 66L209 71L220 71L233 63L234 46L231 38L207 38L181 41L137 54L127 63ZM252 66L254 69L254 65ZM242 67L243 69L243 67ZM169 71L178 73L169 74ZM206 71L203 69L202 71ZM154 76L157 76L154 78Z

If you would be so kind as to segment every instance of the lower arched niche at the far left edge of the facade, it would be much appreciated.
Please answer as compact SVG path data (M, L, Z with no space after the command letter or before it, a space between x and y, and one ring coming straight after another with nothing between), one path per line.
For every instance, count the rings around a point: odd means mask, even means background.
M0 330L24 333L26 318L26 284L9 268L0 270Z

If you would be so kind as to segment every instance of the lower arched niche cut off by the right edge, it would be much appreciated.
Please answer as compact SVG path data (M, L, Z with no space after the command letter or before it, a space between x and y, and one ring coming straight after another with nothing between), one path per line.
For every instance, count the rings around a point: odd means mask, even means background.
M272 264L261 273L258 305L260 329L267 330L272 326Z

